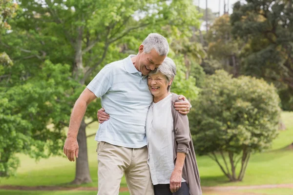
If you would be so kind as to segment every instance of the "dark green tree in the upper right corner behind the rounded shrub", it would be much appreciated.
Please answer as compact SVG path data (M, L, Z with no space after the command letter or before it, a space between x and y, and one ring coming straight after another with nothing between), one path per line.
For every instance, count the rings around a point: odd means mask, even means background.
M283 109L292 110L292 0L246 1L235 3L230 17L234 37L248 40L242 54L242 72L273 82Z

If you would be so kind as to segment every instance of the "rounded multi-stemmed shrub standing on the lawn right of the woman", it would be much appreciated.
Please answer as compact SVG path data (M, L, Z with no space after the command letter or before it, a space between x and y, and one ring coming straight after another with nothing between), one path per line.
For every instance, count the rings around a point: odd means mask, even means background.
M221 70L207 78L192 104L196 109L188 117L195 151L215 160L230 181L242 181L251 154L268 149L277 136L276 89L263 79L232 78Z

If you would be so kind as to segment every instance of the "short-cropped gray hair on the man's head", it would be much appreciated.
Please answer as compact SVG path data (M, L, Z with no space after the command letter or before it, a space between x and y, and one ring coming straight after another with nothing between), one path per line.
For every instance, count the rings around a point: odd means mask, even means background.
M152 49L155 49L160 56L167 56L169 52L169 44L165 37L158 33L150 33L143 41L144 52L150 53Z

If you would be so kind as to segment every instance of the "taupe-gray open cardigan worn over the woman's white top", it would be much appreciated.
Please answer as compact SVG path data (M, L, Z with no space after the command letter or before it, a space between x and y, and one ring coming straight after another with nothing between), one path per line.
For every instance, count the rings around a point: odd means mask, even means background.
M186 154L182 177L186 180L189 186L190 195L202 195L200 177L189 130L188 117L187 115L181 115L174 107L174 102L180 101L178 98L179 95L172 93L172 116L175 132L175 144L173 148L174 163L176 162L177 152Z

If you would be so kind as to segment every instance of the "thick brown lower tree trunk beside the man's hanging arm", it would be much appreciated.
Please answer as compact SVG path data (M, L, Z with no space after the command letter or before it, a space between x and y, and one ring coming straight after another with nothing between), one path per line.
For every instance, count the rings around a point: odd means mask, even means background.
M89 174L85 128L86 124L83 119L77 135L79 154L78 158L76 158L75 179L71 184L79 185L92 182Z

